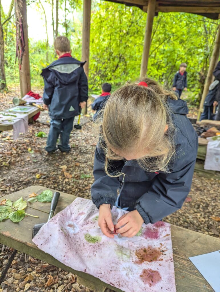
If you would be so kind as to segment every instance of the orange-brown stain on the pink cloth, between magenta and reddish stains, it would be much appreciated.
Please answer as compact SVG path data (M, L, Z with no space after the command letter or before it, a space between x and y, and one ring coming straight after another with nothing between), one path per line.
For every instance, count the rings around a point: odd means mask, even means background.
M160 258L162 251L159 248L148 246L136 250L135 255L138 258L137 264L142 264L143 262L155 262L157 260L162 260Z

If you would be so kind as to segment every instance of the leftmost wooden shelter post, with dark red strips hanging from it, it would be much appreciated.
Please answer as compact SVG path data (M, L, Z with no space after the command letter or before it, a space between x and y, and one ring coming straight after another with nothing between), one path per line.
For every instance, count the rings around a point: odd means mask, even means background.
M17 5L18 4L16 4L16 6ZM17 11L17 9L15 9L15 11ZM26 0L22 0L21 15L22 15L22 20L23 20L25 48L24 48L24 54L23 54L23 58L22 58L21 68L19 70L19 75L20 75L20 91L21 91L21 97L23 97L28 91L31 90L29 47L28 47L28 32L27 32L27 4L26 4Z

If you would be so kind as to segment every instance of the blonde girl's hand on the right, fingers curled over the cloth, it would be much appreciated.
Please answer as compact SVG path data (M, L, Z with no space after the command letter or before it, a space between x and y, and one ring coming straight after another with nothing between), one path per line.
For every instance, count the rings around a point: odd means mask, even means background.
M115 225L116 233L124 237L133 237L141 229L144 220L137 210L124 214ZM120 228L121 226L123 226ZM120 228L120 229L119 229Z

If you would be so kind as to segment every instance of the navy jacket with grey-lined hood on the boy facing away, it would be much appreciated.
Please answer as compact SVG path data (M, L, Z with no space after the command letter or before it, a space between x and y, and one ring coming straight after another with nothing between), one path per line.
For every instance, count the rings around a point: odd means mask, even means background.
M85 62L72 57L60 58L45 69L43 101L52 119L69 119L79 114L79 103L88 99Z

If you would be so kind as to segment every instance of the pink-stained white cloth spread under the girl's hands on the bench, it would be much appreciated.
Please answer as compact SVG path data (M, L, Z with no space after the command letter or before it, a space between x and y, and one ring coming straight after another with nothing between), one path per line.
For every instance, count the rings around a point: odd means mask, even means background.
M170 224L143 224L132 238L110 239L98 227L98 212L91 200L77 198L41 227L33 242L72 269L125 292L176 292ZM113 207L113 223L124 213Z

